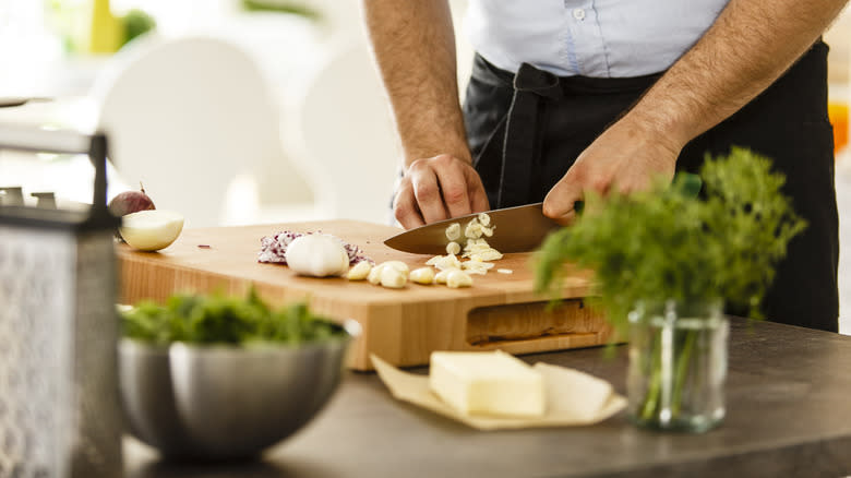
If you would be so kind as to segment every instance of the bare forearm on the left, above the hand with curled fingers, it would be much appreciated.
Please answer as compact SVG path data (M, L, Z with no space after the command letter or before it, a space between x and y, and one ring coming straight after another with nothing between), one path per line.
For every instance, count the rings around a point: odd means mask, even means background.
M406 166L439 154L470 163L447 1L363 0L362 7Z

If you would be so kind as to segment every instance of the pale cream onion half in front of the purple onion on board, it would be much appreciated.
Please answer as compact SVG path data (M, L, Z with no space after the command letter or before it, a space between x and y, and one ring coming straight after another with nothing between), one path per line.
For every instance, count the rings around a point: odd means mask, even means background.
M140 251L158 251L169 247L183 230L183 216L172 211L147 210L121 218L121 238Z

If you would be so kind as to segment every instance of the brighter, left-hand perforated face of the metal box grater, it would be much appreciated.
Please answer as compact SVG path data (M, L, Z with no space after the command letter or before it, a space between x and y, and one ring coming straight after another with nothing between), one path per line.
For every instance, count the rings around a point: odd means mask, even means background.
M0 228L0 477L63 477L71 404L69 234Z

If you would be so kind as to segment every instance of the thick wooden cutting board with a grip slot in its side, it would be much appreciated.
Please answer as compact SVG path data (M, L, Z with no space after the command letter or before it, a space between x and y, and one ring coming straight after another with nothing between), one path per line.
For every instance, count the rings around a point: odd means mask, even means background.
M187 229L159 252L118 246L121 301L163 301L179 291L243 295L251 284L275 306L307 299L319 313L361 324L363 335L349 359L356 370L372 369L370 354L396 366L417 366L428 363L432 350L527 354L604 344L611 332L584 303L585 274L568 276L562 290L568 300L547 310L548 298L532 291L529 253L505 254L487 275L474 275L469 288L408 284L387 289L365 280L301 277L287 266L259 263L260 239L281 230L335 235L360 246L376 263L398 260L413 270L430 259L384 246L400 229L352 220Z

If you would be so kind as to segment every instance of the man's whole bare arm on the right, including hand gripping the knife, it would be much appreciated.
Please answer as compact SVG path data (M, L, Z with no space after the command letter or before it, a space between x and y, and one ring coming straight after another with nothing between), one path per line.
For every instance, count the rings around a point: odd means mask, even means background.
M848 0L730 0L704 36L597 139L547 195L562 223L594 190L630 192L673 176L680 150L745 106L810 48Z

